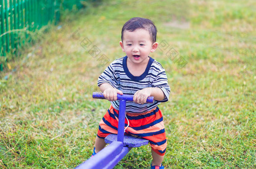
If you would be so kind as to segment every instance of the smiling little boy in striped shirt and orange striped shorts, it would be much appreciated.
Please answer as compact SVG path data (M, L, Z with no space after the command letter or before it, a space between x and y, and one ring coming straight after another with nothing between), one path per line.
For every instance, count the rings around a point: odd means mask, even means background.
M157 49L156 36L157 28L149 19L131 18L123 25L119 43L126 56L113 61L98 79L98 86L111 105L99 123L92 155L104 148L108 134L118 133L120 102L117 93L134 94L133 102L126 103L125 134L149 140L153 158L151 169L164 168L162 161L167 143L162 113L157 105L168 101L170 87L165 69L149 57L149 53ZM146 103L149 96L154 96L154 103Z

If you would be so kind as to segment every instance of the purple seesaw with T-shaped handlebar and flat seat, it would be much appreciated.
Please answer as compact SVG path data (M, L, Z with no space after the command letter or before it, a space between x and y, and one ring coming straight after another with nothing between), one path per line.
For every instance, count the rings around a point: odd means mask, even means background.
M93 92L92 97L105 99L103 93L98 92ZM133 95L118 94L117 98L120 101L118 134L108 135L105 138L105 142L109 143L109 145L77 166L76 169L112 169L133 147L140 147L149 143L148 140L140 137L124 136L126 101L133 101ZM147 98L147 103L153 102L154 97Z

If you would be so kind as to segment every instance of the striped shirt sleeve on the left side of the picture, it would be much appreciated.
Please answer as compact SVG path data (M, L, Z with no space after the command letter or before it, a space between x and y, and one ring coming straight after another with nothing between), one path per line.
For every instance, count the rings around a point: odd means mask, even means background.
M109 83L114 88L118 87L112 63L99 76L97 85L100 86L102 83Z

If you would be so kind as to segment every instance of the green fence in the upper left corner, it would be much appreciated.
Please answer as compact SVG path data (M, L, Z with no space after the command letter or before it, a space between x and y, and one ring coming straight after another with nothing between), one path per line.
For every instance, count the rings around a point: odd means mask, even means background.
M29 31L56 23L60 9L71 9L73 5L82 7L80 0L0 0L0 71L6 67L6 53L17 55ZM21 32L26 34L22 40Z

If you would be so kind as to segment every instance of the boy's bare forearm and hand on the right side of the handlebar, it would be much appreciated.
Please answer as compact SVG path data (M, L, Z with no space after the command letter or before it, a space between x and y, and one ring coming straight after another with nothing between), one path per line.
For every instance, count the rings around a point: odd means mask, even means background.
M162 89L158 87L149 87L136 91L136 93L133 95L133 101L135 103L143 104L146 103L146 99L149 96L154 96L154 100L157 101L162 101L165 99L165 94Z

